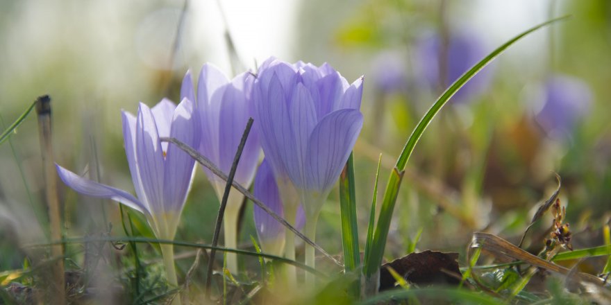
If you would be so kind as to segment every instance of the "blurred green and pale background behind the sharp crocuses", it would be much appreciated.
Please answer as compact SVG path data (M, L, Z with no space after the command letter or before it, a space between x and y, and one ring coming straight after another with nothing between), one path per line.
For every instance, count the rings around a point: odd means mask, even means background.
M420 250L463 252L471 233L482 229L517 242L537 202L555 189L553 172L562 177L574 247L601 245L601 225L611 217L611 4L605 0L203 0L186 6L3 0L0 115L9 125L37 96L49 94L56 162L133 191L120 110L135 112L138 101L155 105L164 96L177 101L184 73L198 72L204 62L228 76L255 69L270 55L328 62L349 82L365 75L365 126L354 152L364 240L378 155L383 190L412 128L455 69L466 70L526 28L561 15L572 17L512 46L431 123L408 164L386 255L406 254L419 229ZM454 39L464 39L456 42L458 51ZM560 85L549 85L558 78ZM0 164L0 270L7 270L22 264L17 245L44 240L35 114L0 147ZM102 234L108 222L111 234L123 234L117 204L81 197L62 184L60 194L68 236ZM317 237L332 254L341 252L336 198L333 192L324 206ZM176 239L209 243L217 208L199 169ZM255 236L252 222L249 204L244 247Z

